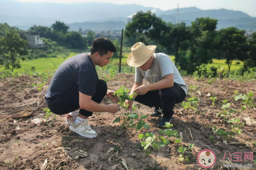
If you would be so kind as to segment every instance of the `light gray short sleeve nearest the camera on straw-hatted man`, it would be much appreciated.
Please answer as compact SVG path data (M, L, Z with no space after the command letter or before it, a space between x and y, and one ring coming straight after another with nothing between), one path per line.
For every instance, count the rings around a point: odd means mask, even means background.
M158 63L162 77L174 73L173 63L168 56L161 56Z

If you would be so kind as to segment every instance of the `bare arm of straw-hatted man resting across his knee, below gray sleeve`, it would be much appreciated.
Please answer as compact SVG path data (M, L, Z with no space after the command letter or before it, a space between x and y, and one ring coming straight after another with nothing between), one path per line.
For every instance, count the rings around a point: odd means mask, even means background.
M173 85L174 85L173 74L168 74L163 77L163 80L160 80L156 83L139 86L138 88L135 89L135 92L138 95L144 95L148 91L166 89L166 88L172 87Z

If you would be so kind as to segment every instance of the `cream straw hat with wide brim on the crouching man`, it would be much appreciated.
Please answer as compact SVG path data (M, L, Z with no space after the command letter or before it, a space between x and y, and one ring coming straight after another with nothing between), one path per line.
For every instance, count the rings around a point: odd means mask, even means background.
M132 67L139 67L145 64L155 52L156 46L145 46L142 42L137 42L132 46L132 53L127 58L127 64Z

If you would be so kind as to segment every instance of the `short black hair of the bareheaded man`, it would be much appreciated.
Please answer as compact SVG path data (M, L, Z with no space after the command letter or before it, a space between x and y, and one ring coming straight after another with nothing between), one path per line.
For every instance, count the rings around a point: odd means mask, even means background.
M108 54L108 51L116 52L116 47L113 45L109 39L104 37L99 37L93 40L92 47L91 47L91 54L98 52L101 56Z

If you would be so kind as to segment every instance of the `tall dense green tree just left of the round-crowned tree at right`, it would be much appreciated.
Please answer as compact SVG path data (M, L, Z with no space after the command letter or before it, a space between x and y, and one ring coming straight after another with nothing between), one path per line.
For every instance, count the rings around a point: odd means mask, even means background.
M198 66L212 62L217 48L216 26L217 19L197 18L187 27L190 31L189 48L181 53L178 62L182 70L192 74Z

